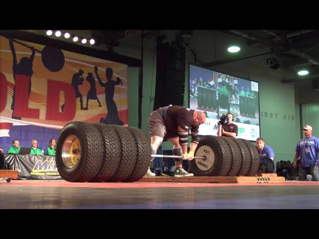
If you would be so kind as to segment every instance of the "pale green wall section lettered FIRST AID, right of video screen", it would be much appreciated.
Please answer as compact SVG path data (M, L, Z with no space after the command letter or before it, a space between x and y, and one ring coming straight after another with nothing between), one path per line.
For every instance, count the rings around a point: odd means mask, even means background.
M300 139L294 86L261 79L259 89L261 136L274 149L276 161L292 161Z

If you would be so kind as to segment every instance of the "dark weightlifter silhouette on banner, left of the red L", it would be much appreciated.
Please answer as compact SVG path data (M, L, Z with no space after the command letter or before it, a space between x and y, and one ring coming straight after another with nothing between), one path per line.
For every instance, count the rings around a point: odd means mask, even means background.
M32 50L32 54L30 56L30 58L28 57L22 57L20 59L20 62L17 64L17 60L16 60L16 54L15 54L15 49L13 46L13 39L9 38L9 45L10 45L10 49L12 52L12 56L13 56L13 66L12 66L12 71L13 71L13 79L14 79L14 83L15 83L15 79L18 77L22 77L25 78L25 76L28 76L28 83L29 83L29 94L28 96L30 96L31 93L31 76L33 74L33 70L32 70L32 66L33 66L33 60L34 60L34 56L35 56L35 49L33 47L29 47ZM25 82L26 84L27 82ZM13 88L13 96L12 96L12 104L11 104L11 110L12 110L12 119L21 119L21 117L14 117L13 116L13 112L14 112L14 98L15 98L15 85Z

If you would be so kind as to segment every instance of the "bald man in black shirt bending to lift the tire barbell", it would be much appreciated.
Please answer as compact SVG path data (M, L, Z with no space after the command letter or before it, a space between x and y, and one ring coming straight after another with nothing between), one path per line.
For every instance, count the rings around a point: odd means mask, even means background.
M173 155L183 156L175 158L175 176L194 176L182 168L182 159L192 160L198 145L199 125L207 118L206 112L194 111L181 106L166 106L151 113L149 118L149 132L151 136L152 154L156 154L161 142L168 140L173 146ZM190 150L187 153L188 131L190 130ZM153 158L154 159L154 158ZM152 159L152 160L153 160ZM145 176L155 176L150 168Z

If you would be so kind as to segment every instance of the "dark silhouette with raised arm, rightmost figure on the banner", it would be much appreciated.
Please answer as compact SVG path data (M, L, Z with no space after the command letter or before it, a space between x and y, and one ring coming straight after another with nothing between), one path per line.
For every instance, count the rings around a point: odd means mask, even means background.
M105 103L106 107L108 109L108 114L107 117L101 118L100 123L105 123L105 124L117 124L117 125L123 125L124 123L121 121L121 119L118 116L118 108L113 100L114 97L114 91L115 91L115 86L123 84L121 79L119 77L116 78L116 81L112 80L113 76L113 70L112 68L106 68L105 70L105 76L107 78L107 82L101 81L101 78L98 74L98 67L94 67L94 71L96 74L96 78L98 78L98 81L100 83L100 86L105 88Z

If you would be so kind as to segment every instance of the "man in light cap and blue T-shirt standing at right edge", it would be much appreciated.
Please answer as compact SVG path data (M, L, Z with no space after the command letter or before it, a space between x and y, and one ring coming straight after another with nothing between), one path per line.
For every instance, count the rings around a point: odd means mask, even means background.
M300 156L299 180L305 181L307 174L311 174L313 181L319 181L319 158L317 156L319 152L319 138L313 136L312 126L305 125L303 129L305 137L297 144L293 166L296 167L297 159Z

